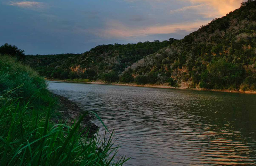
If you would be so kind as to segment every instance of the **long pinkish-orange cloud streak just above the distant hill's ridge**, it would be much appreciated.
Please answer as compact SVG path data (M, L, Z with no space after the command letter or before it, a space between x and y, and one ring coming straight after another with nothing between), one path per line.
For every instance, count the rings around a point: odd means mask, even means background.
M192 32L197 30L200 26L205 25L211 20L202 21L197 20L193 22L184 22L178 24L170 24L164 26L148 26L143 28L132 28L123 25L120 22L110 21L108 22L106 30L94 31L94 34L100 35L101 37L135 37L145 36L152 34L171 34L182 32ZM92 31L91 31L92 32ZM185 35L185 34L184 34Z

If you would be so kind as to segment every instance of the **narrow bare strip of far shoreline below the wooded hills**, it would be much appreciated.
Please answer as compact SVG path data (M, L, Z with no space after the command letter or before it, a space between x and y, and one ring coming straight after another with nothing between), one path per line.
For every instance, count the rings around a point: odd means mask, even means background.
M119 85L119 86L130 86L130 87L153 87L153 88L164 88L164 89L189 89L189 90L199 90L199 91L256 94L256 91L238 91L238 90L220 90L220 89L204 89L204 88L188 88L188 87L171 87L171 86L168 86L167 84L163 84L163 85L156 85L156 84L137 85L137 84L105 83L103 81L82 82L82 81L68 81L68 80L57 80L57 79L46 79L46 80L48 80L48 81L70 82L70 83L83 83L83 84Z

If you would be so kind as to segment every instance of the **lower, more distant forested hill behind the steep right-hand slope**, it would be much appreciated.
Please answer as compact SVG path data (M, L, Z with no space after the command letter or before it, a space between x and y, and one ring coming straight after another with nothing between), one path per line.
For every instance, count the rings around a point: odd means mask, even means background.
M174 41L171 38L169 41L100 45L83 54L30 55L26 56L25 63L47 78L113 82L118 81L125 68Z

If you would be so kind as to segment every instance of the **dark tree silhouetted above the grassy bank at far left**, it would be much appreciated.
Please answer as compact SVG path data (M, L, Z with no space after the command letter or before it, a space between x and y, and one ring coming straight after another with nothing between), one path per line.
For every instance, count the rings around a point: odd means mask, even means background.
M17 57L18 60L25 58L24 52L24 50L18 49L18 47L16 47L15 45L11 45L8 43L5 43L0 47L1 54L7 54L12 57Z

